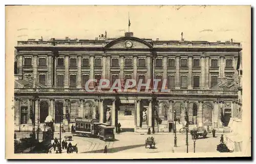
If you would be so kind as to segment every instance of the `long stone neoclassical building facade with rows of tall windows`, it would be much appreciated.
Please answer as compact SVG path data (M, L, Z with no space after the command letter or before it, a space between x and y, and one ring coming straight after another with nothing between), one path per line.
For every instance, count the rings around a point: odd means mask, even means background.
M177 129L189 126L223 128L221 113L237 115L238 56L240 43L141 39L133 33L121 38L99 37L94 40L51 39L18 41L15 46L15 111L16 129L32 128L33 118L40 126L47 117L55 127L66 130L75 118L96 118L106 122L111 111L111 124L120 123L123 130L143 131L142 111L146 111L146 128L172 132L174 111ZM167 80L161 92L87 92L89 79ZM91 83L90 89L97 89ZM60 115L69 114L68 118Z

